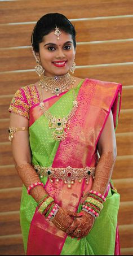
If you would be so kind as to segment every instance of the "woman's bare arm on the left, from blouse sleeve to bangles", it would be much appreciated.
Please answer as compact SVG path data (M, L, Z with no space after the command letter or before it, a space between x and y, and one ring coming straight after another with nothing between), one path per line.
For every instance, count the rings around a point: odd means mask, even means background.
M11 113L10 126L28 127L29 122L24 116ZM15 132L11 145L16 170L20 179L23 181L23 184L28 188L31 184L40 181L39 176L31 164L29 132ZM30 191L30 194L37 202L39 202L39 200L46 194L46 191L42 186L36 186Z

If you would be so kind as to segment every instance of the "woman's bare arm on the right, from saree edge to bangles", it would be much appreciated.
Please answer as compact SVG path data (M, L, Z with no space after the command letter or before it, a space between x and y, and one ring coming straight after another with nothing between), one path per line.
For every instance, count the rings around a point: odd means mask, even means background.
M104 195L108 188L117 157L116 134L114 132L112 111L110 111L97 146L100 158L96 166L96 174L92 190L96 190Z

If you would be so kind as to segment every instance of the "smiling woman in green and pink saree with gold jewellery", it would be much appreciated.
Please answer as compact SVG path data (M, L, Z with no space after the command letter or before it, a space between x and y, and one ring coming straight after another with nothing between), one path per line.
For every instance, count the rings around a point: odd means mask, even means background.
M62 14L38 20L32 50L41 79L9 108L25 254L119 255L111 176L121 85L70 75L76 31Z

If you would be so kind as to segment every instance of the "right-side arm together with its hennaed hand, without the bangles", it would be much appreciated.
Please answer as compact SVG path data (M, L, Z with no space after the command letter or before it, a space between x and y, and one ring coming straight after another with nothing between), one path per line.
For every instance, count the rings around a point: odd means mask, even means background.
M110 111L97 146L100 158L96 166L96 174L94 183L92 185L92 190L96 190L104 195L107 190L110 177L112 176L117 155L116 135L114 133L112 111ZM81 212L83 216L74 220L73 224L68 228L67 233L69 236L81 238L86 236L91 231L94 224L94 217L88 212Z

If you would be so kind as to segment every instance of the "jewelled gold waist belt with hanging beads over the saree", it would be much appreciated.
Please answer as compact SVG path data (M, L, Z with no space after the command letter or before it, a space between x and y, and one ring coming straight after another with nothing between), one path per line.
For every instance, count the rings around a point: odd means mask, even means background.
M93 177L93 179L95 177L95 167L72 168L68 166L66 168L52 168L37 165L33 165L33 167L41 177L47 176L51 182L53 182L52 178L55 178L56 181L61 179L65 184L68 184L68 188L71 187L71 184L74 184L75 180L81 183L82 179L86 179L88 184L90 177Z

